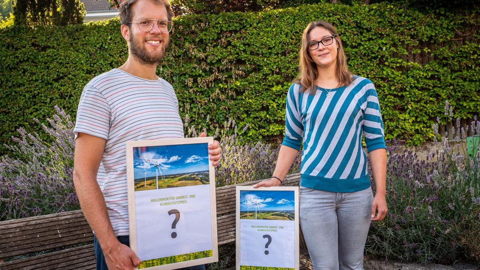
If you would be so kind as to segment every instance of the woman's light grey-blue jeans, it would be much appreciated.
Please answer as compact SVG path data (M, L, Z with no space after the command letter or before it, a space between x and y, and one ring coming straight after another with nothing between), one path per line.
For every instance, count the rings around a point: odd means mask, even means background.
M337 193L300 187L300 225L314 270L363 270L371 188Z

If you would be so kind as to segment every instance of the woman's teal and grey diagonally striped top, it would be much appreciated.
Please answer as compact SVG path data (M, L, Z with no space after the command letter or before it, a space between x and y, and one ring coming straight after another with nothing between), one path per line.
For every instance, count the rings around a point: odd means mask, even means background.
M283 145L299 150L303 142L300 185L330 191L355 192L370 186L367 151L385 148L384 125L373 83L354 77L352 84L315 95L288 90Z

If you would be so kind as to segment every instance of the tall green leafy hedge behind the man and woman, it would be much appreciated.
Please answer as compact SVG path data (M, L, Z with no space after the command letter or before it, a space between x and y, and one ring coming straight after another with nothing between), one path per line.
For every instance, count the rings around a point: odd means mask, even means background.
M190 124L214 130L232 118L239 128L250 125L250 140L281 138L302 32L326 19L352 72L375 83L386 138L418 144L432 138L444 101L455 117L480 112L479 10L442 13L381 3L184 16L175 20L158 74L173 84ZM75 116L82 87L127 53L117 19L0 30L0 141L9 143L19 126L39 131L32 118L51 117L54 105Z

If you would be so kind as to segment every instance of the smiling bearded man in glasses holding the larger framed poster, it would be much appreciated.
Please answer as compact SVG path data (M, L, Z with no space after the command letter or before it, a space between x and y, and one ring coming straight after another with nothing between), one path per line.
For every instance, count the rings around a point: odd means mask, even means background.
M155 74L172 17L168 0L125 0L120 22L128 60L92 79L80 98L73 180L96 235L97 269L133 269L141 262L129 248L125 143L184 137L173 87ZM221 157L218 145L208 146L214 166Z

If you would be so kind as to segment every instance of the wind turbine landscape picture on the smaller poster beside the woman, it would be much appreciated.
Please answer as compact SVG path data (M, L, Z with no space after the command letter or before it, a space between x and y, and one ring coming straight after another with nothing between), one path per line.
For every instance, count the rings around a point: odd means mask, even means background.
M295 220L295 192L240 190L240 219Z

